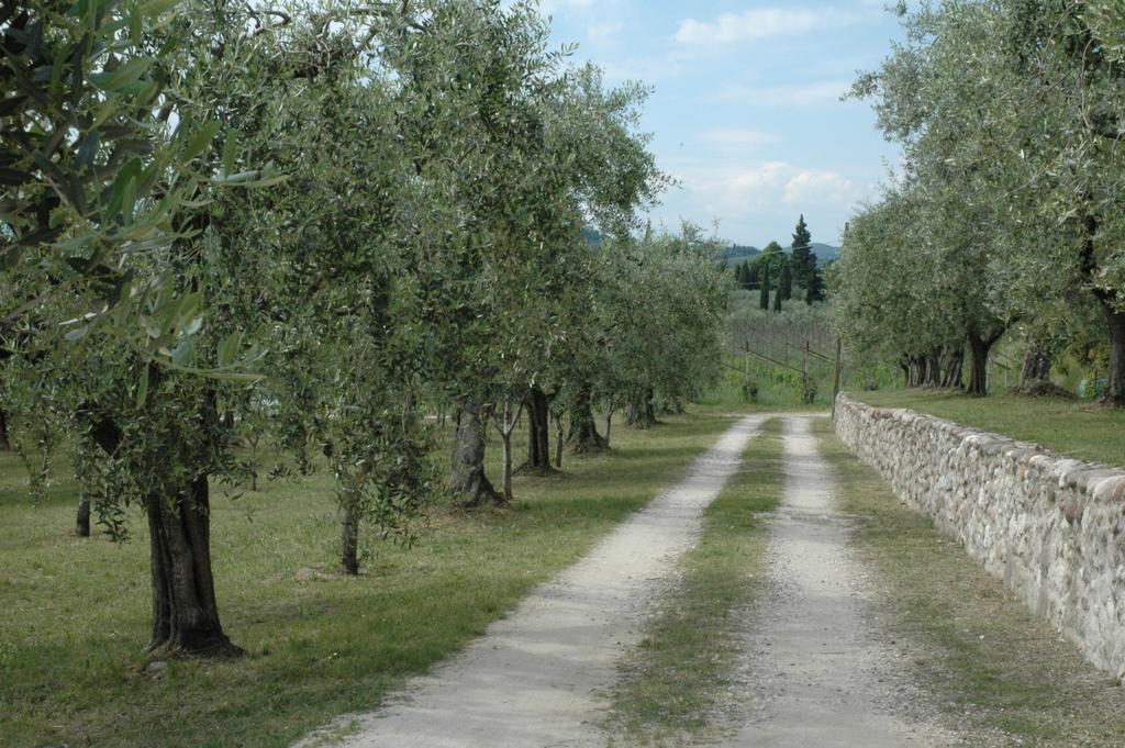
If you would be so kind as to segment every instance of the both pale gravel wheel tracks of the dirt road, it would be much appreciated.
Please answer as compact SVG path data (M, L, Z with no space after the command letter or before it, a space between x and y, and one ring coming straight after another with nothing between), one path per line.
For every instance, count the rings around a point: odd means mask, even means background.
M676 559L699 538L704 510L767 418L739 421L682 481L382 710L344 718L300 746L606 746L600 723L616 664L639 641L646 615L676 578ZM784 501L768 519L765 593L747 615L731 616L744 629L745 709L728 715L734 736L723 745L953 745L924 720L903 717L920 697L903 676L902 654L874 620L873 591L852 557L848 521L836 510L809 417L785 417L784 472ZM346 737L323 740L333 732Z

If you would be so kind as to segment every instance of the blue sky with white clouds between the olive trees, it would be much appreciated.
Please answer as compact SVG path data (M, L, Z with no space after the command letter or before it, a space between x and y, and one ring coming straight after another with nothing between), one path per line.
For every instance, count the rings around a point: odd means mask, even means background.
M900 38L885 0L541 0L557 44L606 83L654 89L644 129L681 186L656 224L680 218L740 244L788 245L803 213L813 241L838 244L853 209L898 160L867 102L840 102L857 70Z

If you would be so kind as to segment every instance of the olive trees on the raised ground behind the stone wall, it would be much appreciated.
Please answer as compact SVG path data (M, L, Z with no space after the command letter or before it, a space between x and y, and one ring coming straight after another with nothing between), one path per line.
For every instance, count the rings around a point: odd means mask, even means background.
M988 391L1002 336L1020 387L1061 355L1100 361L1125 407L1125 6L962 0L899 15L906 42L862 75L901 172L845 235L839 330L911 385Z

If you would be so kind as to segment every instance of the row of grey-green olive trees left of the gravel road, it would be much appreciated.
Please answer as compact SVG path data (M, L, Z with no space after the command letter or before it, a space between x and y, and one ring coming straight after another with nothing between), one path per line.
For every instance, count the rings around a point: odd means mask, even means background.
M550 470L716 376L716 243L638 225L646 91L548 34L500 0L4 4L0 441L33 486L73 444L87 526L143 508L152 648L240 651L208 506L262 439L327 463L356 574L438 486L510 501L521 412Z

